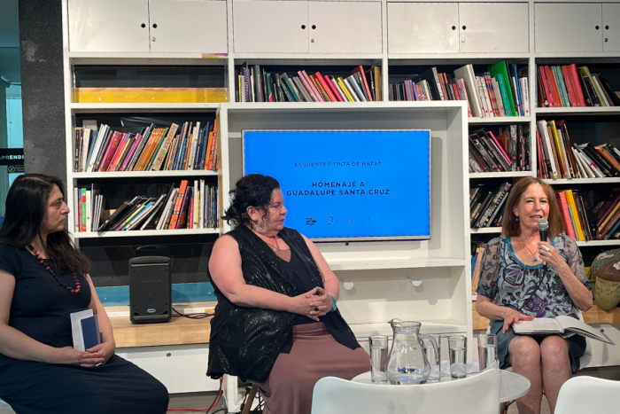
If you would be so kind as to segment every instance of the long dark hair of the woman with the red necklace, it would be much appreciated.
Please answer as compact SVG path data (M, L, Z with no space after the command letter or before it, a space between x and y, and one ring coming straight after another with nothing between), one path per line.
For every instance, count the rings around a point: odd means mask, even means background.
M25 174L18 176L6 196L6 213L0 229L0 242L16 247L26 247L35 238L42 245L58 275L79 271L89 272L89 259L74 246L67 230L50 233L43 240L41 225L47 212L48 201L54 185L66 196L65 184L56 176Z

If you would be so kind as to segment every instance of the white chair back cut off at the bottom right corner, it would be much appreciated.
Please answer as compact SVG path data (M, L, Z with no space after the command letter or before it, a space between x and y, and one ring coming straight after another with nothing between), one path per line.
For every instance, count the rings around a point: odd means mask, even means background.
M571 378L562 385L555 414L617 412L620 382L593 377Z

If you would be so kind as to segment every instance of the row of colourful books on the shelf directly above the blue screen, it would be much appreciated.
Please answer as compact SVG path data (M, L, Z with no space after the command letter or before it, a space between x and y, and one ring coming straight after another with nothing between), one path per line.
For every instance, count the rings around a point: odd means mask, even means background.
M244 64L236 71L237 102L372 102L381 100L379 66L357 66L349 76L268 73Z

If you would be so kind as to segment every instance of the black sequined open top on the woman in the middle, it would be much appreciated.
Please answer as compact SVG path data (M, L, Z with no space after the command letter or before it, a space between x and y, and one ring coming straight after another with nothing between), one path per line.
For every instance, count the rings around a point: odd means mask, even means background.
M235 238L239 245L245 283L291 297L304 293L299 292L296 276L291 274L288 263L252 230L240 225L227 234ZM323 287L319 268L299 232L285 227L278 235L291 247L291 257L296 255L306 269L306 275L297 275L307 276L303 283L305 291L314 286ZM229 374L241 379L264 381L277 356L291 349L292 326L297 321L297 315L236 306L214 283L213 288L218 304L211 320L206 374L213 379ZM330 312L321 321L339 343L352 349L360 347L340 312Z

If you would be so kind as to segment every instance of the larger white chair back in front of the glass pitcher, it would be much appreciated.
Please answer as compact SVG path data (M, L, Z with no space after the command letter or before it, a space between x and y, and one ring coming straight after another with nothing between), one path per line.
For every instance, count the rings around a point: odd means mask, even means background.
M326 377L314 386L312 414L496 414L500 375L500 370L488 370L466 379L412 386Z

